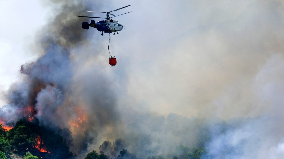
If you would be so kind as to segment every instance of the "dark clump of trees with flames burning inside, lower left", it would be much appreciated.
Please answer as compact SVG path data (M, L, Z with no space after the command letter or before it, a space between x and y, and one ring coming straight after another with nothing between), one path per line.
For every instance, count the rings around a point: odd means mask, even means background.
M19 155L30 151L44 158L70 158L72 156L63 137L48 128L39 126L36 118L33 122L18 121L16 126L8 131L7 137L12 151Z

